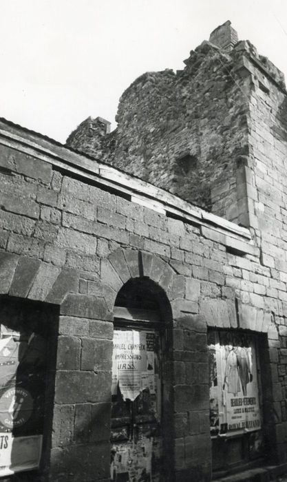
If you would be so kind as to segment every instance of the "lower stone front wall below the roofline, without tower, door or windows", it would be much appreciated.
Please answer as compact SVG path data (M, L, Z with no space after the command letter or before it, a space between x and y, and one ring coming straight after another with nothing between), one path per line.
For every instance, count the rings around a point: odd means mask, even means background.
M171 480L211 476L209 327L264 333L266 442L273 463L286 461L284 270L262 264L236 227L139 205L105 185L98 167L87 178L93 163L81 170L83 157L0 127L0 292L60 313L53 430L45 433L52 450L42 472L56 482L109 480L112 311L123 284L142 275L164 290L173 317Z

